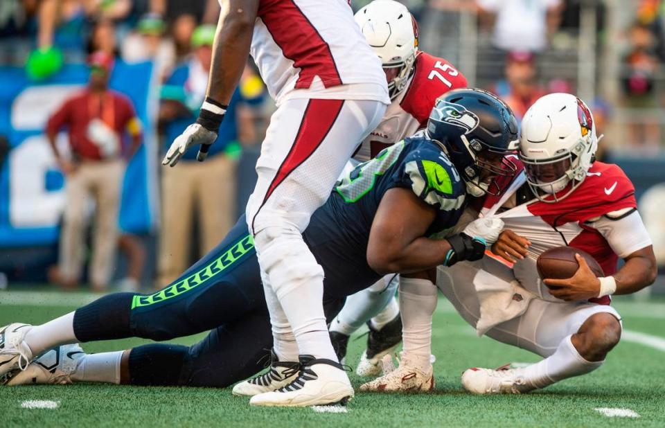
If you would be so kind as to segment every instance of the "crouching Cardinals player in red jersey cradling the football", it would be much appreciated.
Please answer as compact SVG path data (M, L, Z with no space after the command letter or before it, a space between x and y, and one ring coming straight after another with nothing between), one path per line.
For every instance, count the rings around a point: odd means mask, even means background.
M431 302L435 281L479 334L544 357L524 368L470 368L461 381L472 393L526 393L594 371L621 337L610 296L637 292L657 273L630 179L619 166L594 160L598 138L587 105L567 93L544 96L526 113L521 131L525 174L501 198L488 196L480 211L505 222L491 253L438 267L416 288L418 298ZM540 280L535 260L560 246L587 251L605 276L596 278L577 255L574 276ZM625 264L617 270L619 258ZM410 309L400 307L405 332L407 324L427 332L415 340L405 334L411 370L400 365L361 390L428 390L431 313ZM407 372L415 375L406 379Z

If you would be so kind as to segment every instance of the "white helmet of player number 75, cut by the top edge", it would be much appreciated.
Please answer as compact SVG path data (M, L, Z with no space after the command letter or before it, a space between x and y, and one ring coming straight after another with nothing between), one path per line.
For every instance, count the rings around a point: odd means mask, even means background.
M355 14L369 46L378 55L393 100L407 87L418 50L416 20L402 3L374 0Z

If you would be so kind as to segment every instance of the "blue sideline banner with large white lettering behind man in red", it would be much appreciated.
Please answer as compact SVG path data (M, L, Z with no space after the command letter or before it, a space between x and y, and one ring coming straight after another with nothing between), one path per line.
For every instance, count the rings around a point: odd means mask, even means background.
M88 79L87 66L68 65L45 82L31 82L23 69L0 67L0 135L10 152L0 166L0 248L53 244L65 204L64 177L44 135L48 116ZM127 165L120 226L147 233L156 218L154 123L157 98L151 96L152 63L116 61L110 86L128 96L141 119L145 139ZM154 94L153 94L154 95ZM67 148L67 134L58 136Z

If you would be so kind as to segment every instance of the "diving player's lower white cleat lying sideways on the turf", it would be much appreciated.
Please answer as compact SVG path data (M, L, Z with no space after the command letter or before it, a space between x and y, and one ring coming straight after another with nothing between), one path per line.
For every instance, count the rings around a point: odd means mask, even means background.
M76 372L83 357L85 351L78 344L49 349L35 358L24 371L19 371L7 385L71 384L71 375Z

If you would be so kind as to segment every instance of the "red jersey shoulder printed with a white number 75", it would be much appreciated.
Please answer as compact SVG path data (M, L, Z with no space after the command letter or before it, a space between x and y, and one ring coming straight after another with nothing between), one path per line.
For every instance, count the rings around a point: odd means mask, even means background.
M414 69L414 77L400 107L424 125L436 98L452 89L467 87L467 82L461 71L450 62L422 51L416 56Z

